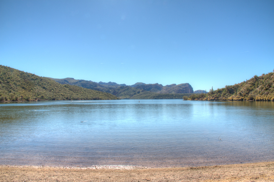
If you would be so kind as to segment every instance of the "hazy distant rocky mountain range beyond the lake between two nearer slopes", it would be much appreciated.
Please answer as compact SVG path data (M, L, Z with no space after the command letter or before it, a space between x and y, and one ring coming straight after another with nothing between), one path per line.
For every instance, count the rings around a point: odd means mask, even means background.
M49 78L49 77L48 77ZM126 85L126 84L117 84L115 82L93 82L88 80L75 80L74 78L63 78L63 79L56 79L56 78L49 78L52 79L60 84L70 84L76 85L79 87L89 88L92 90L103 91L110 93L112 95L117 96L118 98L182 98L186 94L193 94L193 88L190 84L171 84L163 86L162 84L145 84L142 82L138 82L133 85ZM149 92L149 93L146 93ZM161 95L162 94L162 95ZM165 95L163 95L165 94ZM173 94L173 95L168 95ZM175 95L174 95L175 94ZM180 95L181 94L181 95ZM184 94L184 95L182 95Z

